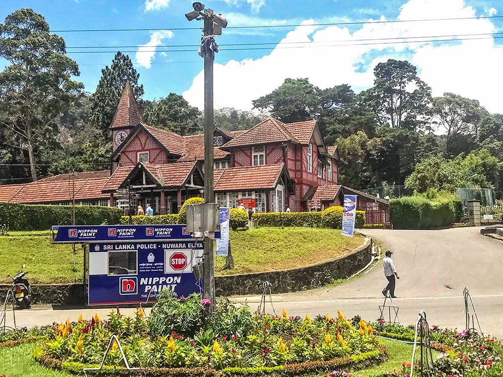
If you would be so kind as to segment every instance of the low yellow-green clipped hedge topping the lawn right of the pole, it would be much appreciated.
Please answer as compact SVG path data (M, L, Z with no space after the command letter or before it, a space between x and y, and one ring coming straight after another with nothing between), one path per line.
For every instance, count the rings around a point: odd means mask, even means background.
M285 226L341 229L343 220L342 207L328 207L321 212L266 212L252 216L256 226ZM356 211L355 227L363 228L365 212Z

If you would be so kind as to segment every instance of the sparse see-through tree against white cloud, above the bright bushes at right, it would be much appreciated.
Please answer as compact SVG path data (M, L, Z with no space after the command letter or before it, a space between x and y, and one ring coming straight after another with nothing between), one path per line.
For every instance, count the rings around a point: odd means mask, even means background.
M478 124L486 112L479 102L454 93L433 99L433 116L446 132L446 154L458 155L475 147Z

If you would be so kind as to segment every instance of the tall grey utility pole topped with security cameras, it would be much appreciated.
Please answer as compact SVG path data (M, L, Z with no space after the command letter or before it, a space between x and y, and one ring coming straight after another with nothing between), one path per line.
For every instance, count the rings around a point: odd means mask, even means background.
M204 9L204 4L192 4L194 11L185 15L187 20L203 20L203 37L199 55L204 58L204 201L213 203L213 60L218 46L213 36L221 35L222 28L227 26L227 20L216 15L211 9ZM210 313L215 310L215 273L213 265L213 239L204 237L203 251L203 291L204 297L211 301Z

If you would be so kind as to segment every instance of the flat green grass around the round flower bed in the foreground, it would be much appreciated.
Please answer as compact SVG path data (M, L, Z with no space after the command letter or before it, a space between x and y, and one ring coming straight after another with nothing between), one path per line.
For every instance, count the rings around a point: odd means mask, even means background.
M351 374L360 374L363 377L369 377L379 373L387 372L388 370L401 369L401 362L410 362L412 356L412 345L401 343L394 340L381 339L388 348L389 359L372 368L363 370L352 370ZM13 377L70 377L71 374L61 371L55 371L42 367L33 358L33 349L35 343L25 343L9 348L0 348L0 375L12 375ZM438 352L433 351L435 357ZM350 372L348 370L348 372ZM323 376L316 374L311 376ZM306 376L307 377L307 376Z

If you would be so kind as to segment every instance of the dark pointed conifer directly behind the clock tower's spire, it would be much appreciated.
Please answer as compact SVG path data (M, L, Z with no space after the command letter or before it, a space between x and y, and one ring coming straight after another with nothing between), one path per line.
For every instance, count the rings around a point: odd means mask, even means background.
M114 119L117 104L121 98L126 82L129 82L134 96L143 95L143 85L138 85L139 73L134 69L128 55L117 51L111 66L101 70L101 78L96 91L91 96L90 122L103 133L110 143L110 125Z

